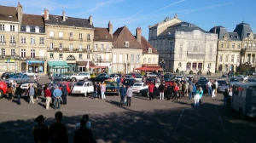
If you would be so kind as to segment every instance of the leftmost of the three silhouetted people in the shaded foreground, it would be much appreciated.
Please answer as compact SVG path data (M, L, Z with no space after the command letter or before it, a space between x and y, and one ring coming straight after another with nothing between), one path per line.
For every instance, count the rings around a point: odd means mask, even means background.
M43 115L39 115L35 119L35 122L38 123L32 128L35 143L48 143L48 126L44 124L44 119Z

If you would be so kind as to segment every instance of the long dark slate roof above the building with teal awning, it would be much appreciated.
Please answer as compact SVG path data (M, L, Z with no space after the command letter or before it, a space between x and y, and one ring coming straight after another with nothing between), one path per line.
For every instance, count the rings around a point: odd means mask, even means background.
M49 20L45 20L46 25L57 25L57 26L76 26L76 27L84 27L84 28L93 28L90 25L90 21L88 19L79 19L73 17L67 17L66 20L63 21L62 16L49 14Z

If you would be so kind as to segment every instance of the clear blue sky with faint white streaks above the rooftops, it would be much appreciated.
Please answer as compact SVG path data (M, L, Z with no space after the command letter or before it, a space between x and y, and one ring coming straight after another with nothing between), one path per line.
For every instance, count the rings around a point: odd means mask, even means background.
M234 31L237 24L250 24L256 33L255 0L5 0L1 5L16 6L20 2L26 14L49 14L86 18L92 15L94 26L107 27L108 20L113 31L127 26L135 34L138 26L148 39L148 26L165 17L177 14L180 20L193 23L209 31L213 26L224 26Z

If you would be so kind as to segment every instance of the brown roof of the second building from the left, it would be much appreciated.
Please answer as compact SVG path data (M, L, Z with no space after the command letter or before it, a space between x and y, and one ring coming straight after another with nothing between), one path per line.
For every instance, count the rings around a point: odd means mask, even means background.
M23 14L22 26L44 26L44 16L34 14Z

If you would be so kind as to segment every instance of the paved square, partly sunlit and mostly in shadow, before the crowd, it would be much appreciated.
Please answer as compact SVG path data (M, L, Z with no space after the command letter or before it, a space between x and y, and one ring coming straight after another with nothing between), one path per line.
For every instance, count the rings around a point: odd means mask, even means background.
M41 77L39 83L48 82ZM67 106L45 110L43 97L34 105L21 100L21 105L0 100L0 139L5 143L33 142L35 117L43 114L45 124L54 123L55 112L63 112L69 142L73 142L75 124L89 114L92 132L99 143L126 142L256 142L256 119L240 119L222 103L223 95L210 98L204 94L202 106L193 100L148 100L134 94L131 107L119 107L119 96L92 100L91 95L68 96ZM41 101L42 100L42 101Z

